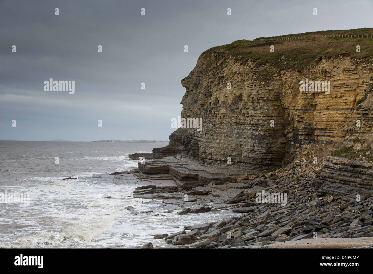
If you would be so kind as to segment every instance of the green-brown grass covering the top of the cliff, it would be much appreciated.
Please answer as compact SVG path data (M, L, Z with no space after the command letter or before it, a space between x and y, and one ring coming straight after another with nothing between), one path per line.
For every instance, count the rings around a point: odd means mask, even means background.
M313 37L309 37L309 36ZM320 37L314 37L319 35ZM321 37L321 35L356 35L356 37ZM360 37L357 37L359 35ZM361 38L361 35L369 35L369 38ZM295 69L303 71L322 56L338 56L346 54L357 59L363 59L364 63L373 63L373 28L350 29L341 31L318 31L303 34L291 34L267 38L302 37L296 40L261 41L256 38L250 40L238 40L231 44L210 48L203 54L210 57L217 50L226 50L238 60L257 60L256 67L263 64L271 64L279 69ZM308 36L303 38L304 36ZM270 46L275 46L275 52L270 52ZM356 46L360 45L360 53L356 52Z

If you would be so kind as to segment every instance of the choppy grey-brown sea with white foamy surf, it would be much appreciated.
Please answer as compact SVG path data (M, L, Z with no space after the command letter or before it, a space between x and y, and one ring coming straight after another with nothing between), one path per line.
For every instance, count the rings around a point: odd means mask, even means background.
M226 210L177 215L160 200L132 198L137 183L116 185L95 177L138 167L128 154L164 145L0 141L0 192L29 195L29 203L0 202L0 248L131 248L150 241L165 246L153 235L233 216ZM66 177L78 179L62 180ZM133 215L128 206L153 212Z

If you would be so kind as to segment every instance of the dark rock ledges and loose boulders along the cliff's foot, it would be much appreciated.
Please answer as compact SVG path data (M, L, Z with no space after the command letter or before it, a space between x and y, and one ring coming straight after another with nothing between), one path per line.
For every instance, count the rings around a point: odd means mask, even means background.
M361 173L354 174L357 170ZM285 248L298 240L317 243L329 238L339 239L330 244L334 247L372 247L372 190L351 184L351 177L372 176L363 161L328 157L315 165L306 153L304 158L269 173L238 175L242 171L248 170L202 164L181 154L139 163L139 169L115 176L119 180L139 180L142 186L136 188L134 198L163 200L164 209L175 214L220 210L237 213L237 217L220 222L154 235L154 239L164 239L165 244L178 248ZM335 192L335 186L329 185L330 177L340 191ZM286 193L288 204L258 203L256 193L263 191ZM354 191L361 201L351 194ZM344 243L345 238L362 239L350 245L350 241ZM149 246L153 245L144 248Z

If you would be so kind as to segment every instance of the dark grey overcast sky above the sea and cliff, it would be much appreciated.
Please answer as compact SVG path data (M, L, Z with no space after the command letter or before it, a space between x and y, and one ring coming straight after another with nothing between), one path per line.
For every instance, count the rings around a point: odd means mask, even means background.
M372 0L0 0L0 139L168 140L181 79L203 51L372 27L372 10ZM75 81L75 93L44 91L50 78Z

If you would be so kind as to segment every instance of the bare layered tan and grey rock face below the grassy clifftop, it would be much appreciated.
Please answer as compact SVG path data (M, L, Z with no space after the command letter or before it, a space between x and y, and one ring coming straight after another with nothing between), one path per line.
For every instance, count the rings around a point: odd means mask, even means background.
M186 88L181 116L202 118L202 130L176 130L155 157L184 150L206 162L231 157L232 164L276 169L306 145L342 144L361 115L355 107L367 96L372 64L348 54L320 57L303 72L256 62L226 50L203 53L181 82ZM300 91L306 78L330 81L330 94Z

